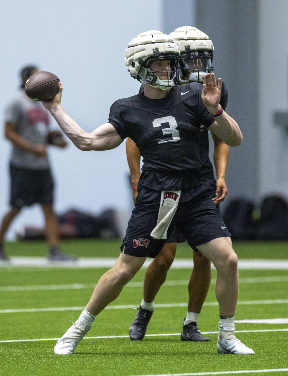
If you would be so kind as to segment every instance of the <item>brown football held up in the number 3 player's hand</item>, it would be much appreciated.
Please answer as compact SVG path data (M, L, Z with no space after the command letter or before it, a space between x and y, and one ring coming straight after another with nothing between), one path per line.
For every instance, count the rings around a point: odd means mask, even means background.
M33 100L51 100L58 92L59 78L50 72L36 72L25 83L24 91Z

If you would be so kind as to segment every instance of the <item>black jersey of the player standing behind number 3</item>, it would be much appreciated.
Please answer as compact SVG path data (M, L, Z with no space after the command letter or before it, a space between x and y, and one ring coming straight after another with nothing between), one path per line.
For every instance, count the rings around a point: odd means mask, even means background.
M144 92L143 83L140 86L139 92L140 93ZM224 82L222 81L220 105L222 106L224 111L226 111L227 101L228 101L228 92L227 92ZM203 124L201 124L201 127L200 127L200 160L201 160L202 179L211 180L215 182L213 166L209 159L208 129Z

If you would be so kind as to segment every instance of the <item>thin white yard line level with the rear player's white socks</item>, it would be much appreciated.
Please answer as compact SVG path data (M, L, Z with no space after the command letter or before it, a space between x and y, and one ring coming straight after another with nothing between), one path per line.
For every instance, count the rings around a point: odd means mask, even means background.
M237 302L238 305L257 305L257 304L287 304L288 299L277 300L244 300ZM205 302L205 306L218 306L218 302ZM136 308L138 305L111 305L104 309L126 309ZM155 308L186 307L187 303L167 303L155 304ZM50 307L50 308L20 308L20 309L0 309L0 313L19 313L19 312L52 312L52 311L79 311L85 307Z

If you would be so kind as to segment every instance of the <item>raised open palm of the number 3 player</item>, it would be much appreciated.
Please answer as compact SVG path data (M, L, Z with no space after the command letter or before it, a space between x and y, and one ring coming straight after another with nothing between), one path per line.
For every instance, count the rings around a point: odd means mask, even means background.
M221 78L218 78L218 86L214 73L207 73L203 79L202 100L208 111L212 114L217 113L221 106L219 104L221 97Z

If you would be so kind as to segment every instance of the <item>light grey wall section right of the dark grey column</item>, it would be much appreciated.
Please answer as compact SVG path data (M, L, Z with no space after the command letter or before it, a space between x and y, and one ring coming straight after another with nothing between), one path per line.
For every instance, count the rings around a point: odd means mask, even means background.
M259 183L261 196L288 199L288 133L273 124L274 111L288 111L288 2L259 2Z

